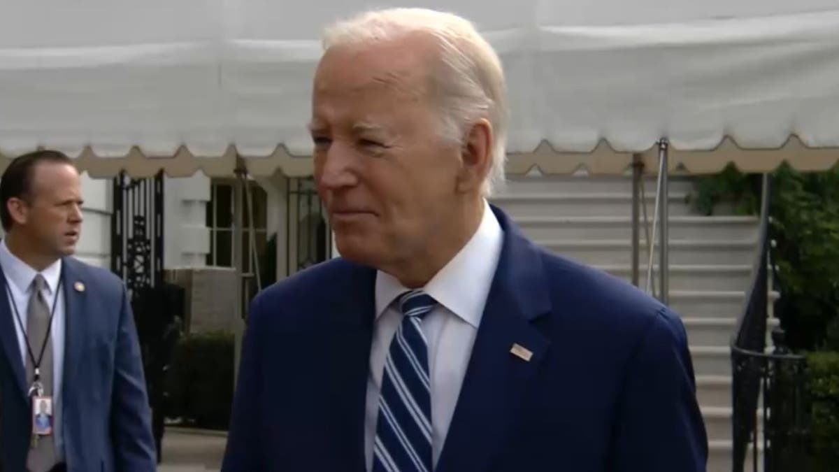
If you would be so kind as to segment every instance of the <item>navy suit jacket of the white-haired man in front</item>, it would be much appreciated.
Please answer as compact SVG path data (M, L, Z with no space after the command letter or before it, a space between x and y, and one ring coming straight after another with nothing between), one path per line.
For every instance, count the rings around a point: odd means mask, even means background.
M503 212L498 270L437 472L696 472L685 329L623 281L539 249ZM224 472L363 472L376 271L331 260L251 307ZM525 361L513 344L533 351Z

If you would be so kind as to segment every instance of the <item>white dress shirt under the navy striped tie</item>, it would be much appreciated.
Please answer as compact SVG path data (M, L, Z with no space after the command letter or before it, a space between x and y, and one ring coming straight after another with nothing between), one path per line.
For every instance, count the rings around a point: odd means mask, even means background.
M446 434L455 412L457 397L460 396L466 364L472 354L472 345L481 324L502 244L501 226L485 202L481 224L472 239L424 288L439 303L425 315L422 323L429 349L431 445L435 465L446 443ZM364 422L367 470L373 468L373 443L376 438L384 361L388 356L390 341L403 317L393 301L407 290L392 275L378 271L376 323L373 327Z

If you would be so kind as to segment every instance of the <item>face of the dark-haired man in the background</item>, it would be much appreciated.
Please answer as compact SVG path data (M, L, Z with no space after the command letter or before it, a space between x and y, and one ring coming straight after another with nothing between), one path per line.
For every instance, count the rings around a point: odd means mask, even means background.
M23 199L21 232L39 254L56 258L76 252L81 234L81 180L72 165L35 166L29 196Z

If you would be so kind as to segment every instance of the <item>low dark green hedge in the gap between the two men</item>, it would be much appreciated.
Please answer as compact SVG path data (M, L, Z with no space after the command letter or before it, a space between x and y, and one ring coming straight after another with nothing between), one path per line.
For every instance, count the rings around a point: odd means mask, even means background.
M175 347L166 377L168 417L208 429L227 429L233 400L233 334L190 334Z

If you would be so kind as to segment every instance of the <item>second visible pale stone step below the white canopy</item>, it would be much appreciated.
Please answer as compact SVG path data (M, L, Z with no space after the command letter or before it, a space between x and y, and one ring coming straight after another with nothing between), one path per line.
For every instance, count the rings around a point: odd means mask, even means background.
M670 216L686 216L692 212L685 202L687 193L672 191L668 202ZM501 207L513 221L517 218L545 218L569 216L618 216L632 215L631 193L515 193L492 197L490 202ZM655 196L648 195L649 219L655 211Z

